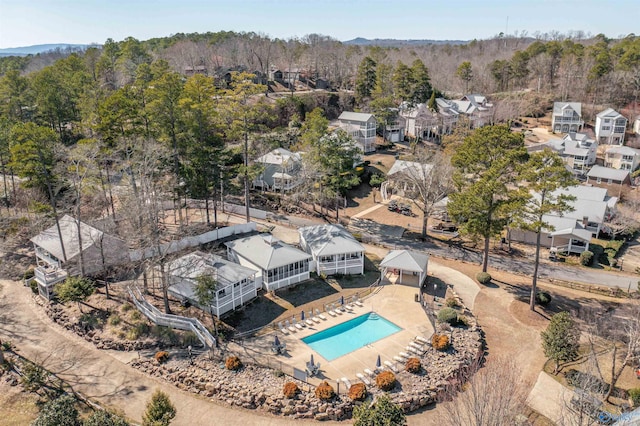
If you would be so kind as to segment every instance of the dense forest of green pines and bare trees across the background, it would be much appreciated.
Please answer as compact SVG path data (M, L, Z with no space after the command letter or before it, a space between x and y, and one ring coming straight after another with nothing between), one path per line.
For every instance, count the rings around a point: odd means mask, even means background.
M286 88L286 96L275 96L273 69L298 69L329 89L290 85L290 96ZM218 32L0 58L0 194L25 211L108 212L114 219L123 211L133 218L130 229L153 227L153 203L191 196L209 206L225 192L246 195L257 173L250 160L277 146L310 153L315 176L321 167L347 164L348 150L333 161L322 155L344 145L346 135L318 142L328 120L344 110L373 112L385 122L401 102L472 92L497 101L497 121L542 114L553 100L635 105L640 37L501 34L380 47L317 34L280 40ZM527 106L516 106L525 95ZM585 118L594 111L587 108ZM345 191L348 173L331 170L340 179L306 191L314 200L333 199ZM17 180L23 191L16 191ZM114 194L114 182L130 191Z

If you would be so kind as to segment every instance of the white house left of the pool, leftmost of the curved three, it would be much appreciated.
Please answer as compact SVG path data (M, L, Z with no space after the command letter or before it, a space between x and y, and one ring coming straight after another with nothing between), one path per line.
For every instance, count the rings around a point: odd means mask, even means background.
M217 317L244 305L257 295L254 269L210 253L189 253L169 262L166 270L169 274L169 293L189 300ZM217 283L210 306L201 306L195 293L197 278L202 275L211 276Z

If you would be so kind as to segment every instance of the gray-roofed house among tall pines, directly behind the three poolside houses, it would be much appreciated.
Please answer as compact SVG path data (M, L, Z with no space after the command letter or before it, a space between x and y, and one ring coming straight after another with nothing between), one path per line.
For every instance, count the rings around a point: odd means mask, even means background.
M255 163L262 165L263 170L253 181L254 187L284 192L302 183L302 158L297 152L276 148L256 158Z

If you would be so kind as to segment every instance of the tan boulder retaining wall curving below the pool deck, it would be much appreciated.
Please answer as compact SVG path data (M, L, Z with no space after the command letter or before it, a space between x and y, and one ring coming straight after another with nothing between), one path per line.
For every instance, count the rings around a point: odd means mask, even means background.
M447 334L451 338L451 348L445 352L428 348L421 357L422 373L401 371L396 374L400 386L396 386L390 396L405 412L441 400L452 387L468 379L467 375L473 373L473 367L483 356L482 333L476 326L453 328ZM321 401L315 397L311 386L277 374L272 369L246 365L233 372L226 370L224 363L218 364L205 355L193 365L183 359L170 359L165 364L158 364L155 360L134 360L131 365L180 389L223 404L289 418L346 420L351 418L353 407L358 404L343 394L329 402ZM295 399L285 398L282 394L284 384L289 381L297 382L302 389ZM368 391L374 396L382 393L374 385L369 386Z

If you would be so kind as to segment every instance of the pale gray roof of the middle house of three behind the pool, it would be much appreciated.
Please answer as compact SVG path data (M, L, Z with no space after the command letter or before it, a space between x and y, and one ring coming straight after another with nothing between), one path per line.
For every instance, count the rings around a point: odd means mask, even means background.
M263 270L311 258L311 255L283 243L270 234L253 235L225 244L238 255Z

